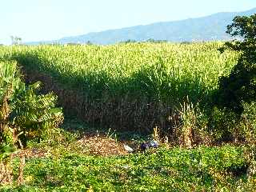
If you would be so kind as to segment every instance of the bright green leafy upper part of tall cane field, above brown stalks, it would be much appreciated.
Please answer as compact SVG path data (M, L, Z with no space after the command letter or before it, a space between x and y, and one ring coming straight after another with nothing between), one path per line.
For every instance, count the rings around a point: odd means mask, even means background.
M229 74L236 54L219 54L222 43L136 43L115 46L18 46L12 53L72 89L104 94L179 100L203 98Z

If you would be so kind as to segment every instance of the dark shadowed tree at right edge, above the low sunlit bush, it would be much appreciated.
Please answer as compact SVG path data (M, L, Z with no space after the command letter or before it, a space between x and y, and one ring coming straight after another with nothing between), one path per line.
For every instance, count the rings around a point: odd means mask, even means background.
M241 114L242 102L256 100L256 14L235 17L226 33L242 39L226 42L220 51L238 51L240 58L230 75L220 78L216 98L218 106Z

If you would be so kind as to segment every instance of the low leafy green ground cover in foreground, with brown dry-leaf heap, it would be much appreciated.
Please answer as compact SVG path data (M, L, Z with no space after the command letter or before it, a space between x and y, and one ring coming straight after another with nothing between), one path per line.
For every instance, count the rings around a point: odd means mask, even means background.
M126 142L118 140L119 134L110 137L95 132L86 139L88 143L81 143L82 134L63 131L62 135L65 138L62 142L30 142L25 150L24 185L5 186L1 190L252 191L256 184L255 178L246 177L245 146L185 149L162 144L145 153L127 154L121 150L116 154L113 150L122 149L122 143ZM92 146L95 137L95 145L105 148ZM105 150L105 154L97 154L95 149Z

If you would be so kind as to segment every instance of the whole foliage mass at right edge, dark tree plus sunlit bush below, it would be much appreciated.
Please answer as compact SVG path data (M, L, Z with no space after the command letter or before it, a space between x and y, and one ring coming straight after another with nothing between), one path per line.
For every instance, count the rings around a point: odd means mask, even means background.
M230 75L219 79L210 126L217 140L250 142L256 117L256 14L235 17L226 33L242 40L226 42L219 50L238 52L239 58Z

